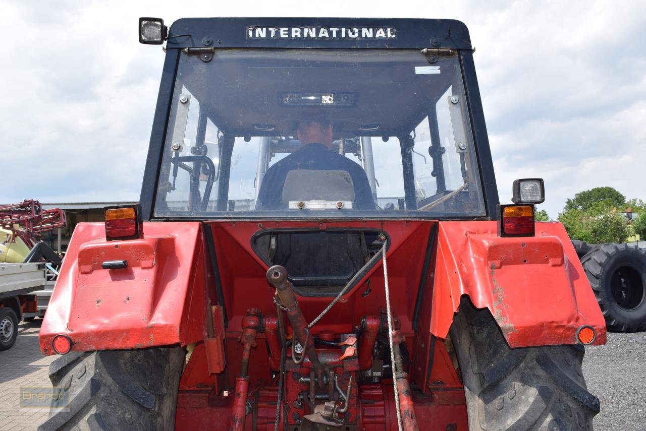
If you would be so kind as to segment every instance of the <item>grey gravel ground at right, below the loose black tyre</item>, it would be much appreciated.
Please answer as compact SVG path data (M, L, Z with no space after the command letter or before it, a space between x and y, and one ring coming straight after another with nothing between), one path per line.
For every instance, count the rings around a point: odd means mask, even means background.
M607 345L587 347L583 375L601 401L595 430L646 430L646 332L609 333Z

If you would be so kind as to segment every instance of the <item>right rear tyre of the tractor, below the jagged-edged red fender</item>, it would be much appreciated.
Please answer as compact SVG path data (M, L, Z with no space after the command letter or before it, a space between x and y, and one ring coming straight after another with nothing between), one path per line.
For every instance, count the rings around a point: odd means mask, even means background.
M583 346L510 348L489 310L466 298L450 336L470 431L592 430L599 399L583 380Z

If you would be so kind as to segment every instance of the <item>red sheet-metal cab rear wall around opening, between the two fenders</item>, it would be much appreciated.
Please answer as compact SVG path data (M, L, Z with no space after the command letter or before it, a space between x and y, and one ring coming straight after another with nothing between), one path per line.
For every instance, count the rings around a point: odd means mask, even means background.
M421 277L424 250L430 226L435 222L406 220L343 220L343 221L207 221L213 229L216 255L224 290L229 330L240 328L242 316L249 306L260 308L262 314L275 312L273 294L266 281L267 264L256 255L251 237L267 229L371 229L386 232L388 276L392 292L393 314L401 319L402 333L412 335L411 319ZM368 289L370 294L362 296ZM331 297L305 297L297 294L307 321L311 321L329 304ZM381 262L373 266L355 287L348 290L337 305L315 328L335 334L351 332L362 317L373 315L386 303Z

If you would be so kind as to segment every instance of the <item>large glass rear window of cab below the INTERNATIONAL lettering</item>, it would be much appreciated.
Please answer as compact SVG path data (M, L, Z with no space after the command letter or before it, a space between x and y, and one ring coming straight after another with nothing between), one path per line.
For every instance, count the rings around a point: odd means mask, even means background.
M183 52L155 215L485 215L457 54Z

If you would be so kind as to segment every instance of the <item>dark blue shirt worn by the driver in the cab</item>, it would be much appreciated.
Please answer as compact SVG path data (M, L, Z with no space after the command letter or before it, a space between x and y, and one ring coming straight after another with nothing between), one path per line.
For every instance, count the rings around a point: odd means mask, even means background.
M282 192L287 173L295 169L344 170L350 174L355 189L355 200L352 208L359 210L375 209L372 190L366 172L358 163L319 143L304 145L284 159L267 169L260 192L256 210L278 210L287 208L282 202Z

